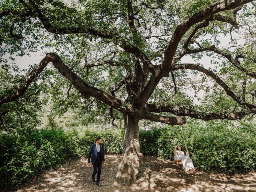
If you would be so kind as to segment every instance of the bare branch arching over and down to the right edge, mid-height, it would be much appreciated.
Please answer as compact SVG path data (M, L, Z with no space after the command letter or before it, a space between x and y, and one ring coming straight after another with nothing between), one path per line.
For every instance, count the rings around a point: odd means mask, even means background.
M253 104L243 102L241 100L241 98L236 96L230 90L230 88L216 74L214 74L211 70L207 70L207 69L205 69L205 68L203 68L203 67L201 67L200 65L197 65L197 64L179 64L179 65L174 66L171 70L173 71L173 70L178 70L178 69L190 69L190 70L197 70L197 71L203 72L207 76L214 79L225 90L226 94L228 94L228 96L230 96L238 104L240 104L241 106L246 106L249 109L256 108L256 106L253 105Z

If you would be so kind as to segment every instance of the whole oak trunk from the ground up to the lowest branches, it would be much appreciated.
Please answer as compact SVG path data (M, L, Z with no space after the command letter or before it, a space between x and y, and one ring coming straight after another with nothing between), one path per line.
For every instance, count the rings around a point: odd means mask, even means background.
M136 180L140 158L142 157L139 144L139 119L136 116L127 115L124 120L126 120L124 123L124 155L116 173L116 180L114 181L114 185L122 186L130 185Z

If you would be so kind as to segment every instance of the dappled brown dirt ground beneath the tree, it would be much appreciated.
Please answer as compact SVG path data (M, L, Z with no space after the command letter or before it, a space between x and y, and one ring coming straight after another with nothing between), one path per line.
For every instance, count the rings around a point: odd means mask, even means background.
M57 170L38 176L14 192L244 192L256 191L256 173L227 176L196 170L185 174L182 165L172 160L144 156L139 179L130 187L116 188L112 185L120 155L106 155L102 167L102 187L90 179L92 166L86 166L86 159L69 160Z

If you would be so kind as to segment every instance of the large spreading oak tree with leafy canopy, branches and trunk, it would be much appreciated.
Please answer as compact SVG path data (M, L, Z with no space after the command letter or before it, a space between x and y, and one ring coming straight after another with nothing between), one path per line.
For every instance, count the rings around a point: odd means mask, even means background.
M109 106L111 116L122 114L124 157L117 184L136 179L140 120L182 125L186 116L236 120L256 112L253 0L9 0L0 5L2 82L10 79L6 53L22 56L51 50L16 82L16 86L22 82L19 88L1 85L1 126L15 108L11 110L10 104L25 95L28 101L40 92L47 77L42 74L51 63L58 73L48 73L50 84L60 86L64 77L67 96L75 90L80 101L94 98ZM220 34L231 36L227 48L220 46ZM238 38L245 39L242 46ZM217 69L182 62L188 55L196 62L211 57ZM216 98L225 93L226 106L206 109L187 101L173 102L177 96L186 100L181 87L188 71L212 79L213 86L200 83L218 92Z

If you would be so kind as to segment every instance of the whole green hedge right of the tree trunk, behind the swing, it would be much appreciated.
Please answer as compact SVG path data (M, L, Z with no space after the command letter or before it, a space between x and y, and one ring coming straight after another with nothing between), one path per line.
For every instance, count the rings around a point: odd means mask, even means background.
M185 141L194 165L205 171L245 173L256 170L256 131L254 126L230 122L188 122L182 126ZM174 136L173 136L174 134ZM172 159L174 145L184 139L179 126L140 130L143 154Z

